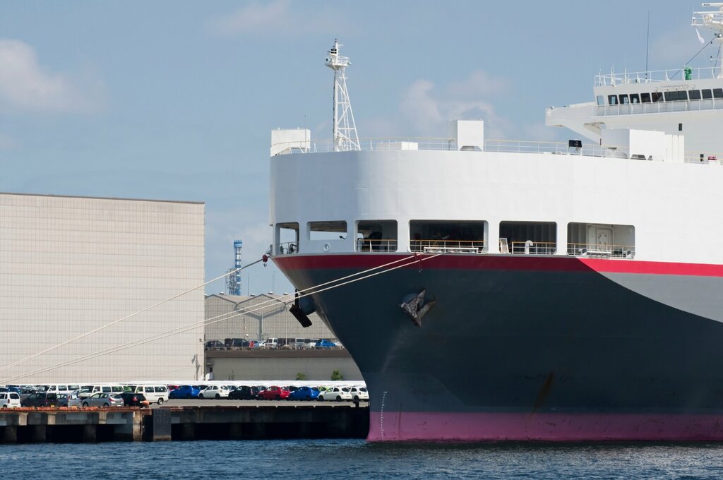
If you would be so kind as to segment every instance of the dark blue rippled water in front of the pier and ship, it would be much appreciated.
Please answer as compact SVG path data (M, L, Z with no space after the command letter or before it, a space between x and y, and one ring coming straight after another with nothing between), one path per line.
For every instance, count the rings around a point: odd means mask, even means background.
M0 479L722 479L723 445L363 440L0 445ZM348 477L351 476L351 477Z

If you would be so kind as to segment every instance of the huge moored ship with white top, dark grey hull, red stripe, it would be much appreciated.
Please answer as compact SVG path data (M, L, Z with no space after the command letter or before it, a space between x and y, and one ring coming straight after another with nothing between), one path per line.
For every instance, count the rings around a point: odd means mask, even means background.
M326 64L333 139L272 132L271 252L364 375L368 440L723 440L720 61L599 74L545 112L561 143L360 140Z

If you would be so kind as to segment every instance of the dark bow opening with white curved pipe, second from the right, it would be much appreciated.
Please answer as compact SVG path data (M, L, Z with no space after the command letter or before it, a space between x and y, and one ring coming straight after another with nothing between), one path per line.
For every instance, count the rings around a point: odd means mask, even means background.
M557 223L500 222L500 252L552 255L557 251Z

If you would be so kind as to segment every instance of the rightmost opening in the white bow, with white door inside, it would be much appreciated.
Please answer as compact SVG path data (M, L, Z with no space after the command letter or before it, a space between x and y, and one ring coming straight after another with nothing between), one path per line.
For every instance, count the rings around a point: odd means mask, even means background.
M568 255L635 257L635 227L603 223L568 223Z

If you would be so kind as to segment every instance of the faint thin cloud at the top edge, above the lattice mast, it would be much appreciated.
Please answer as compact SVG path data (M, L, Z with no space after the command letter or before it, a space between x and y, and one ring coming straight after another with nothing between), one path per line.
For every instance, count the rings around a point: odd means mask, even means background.
M268 3L254 1L230 14L213 18L208 22L208 27L211 32L224 36L245 34L278 37L338 33L338 23L326 9L310 10L304 5L304 8L292 11L288 0ZM349 30L350 25L344 25L346 34Z

